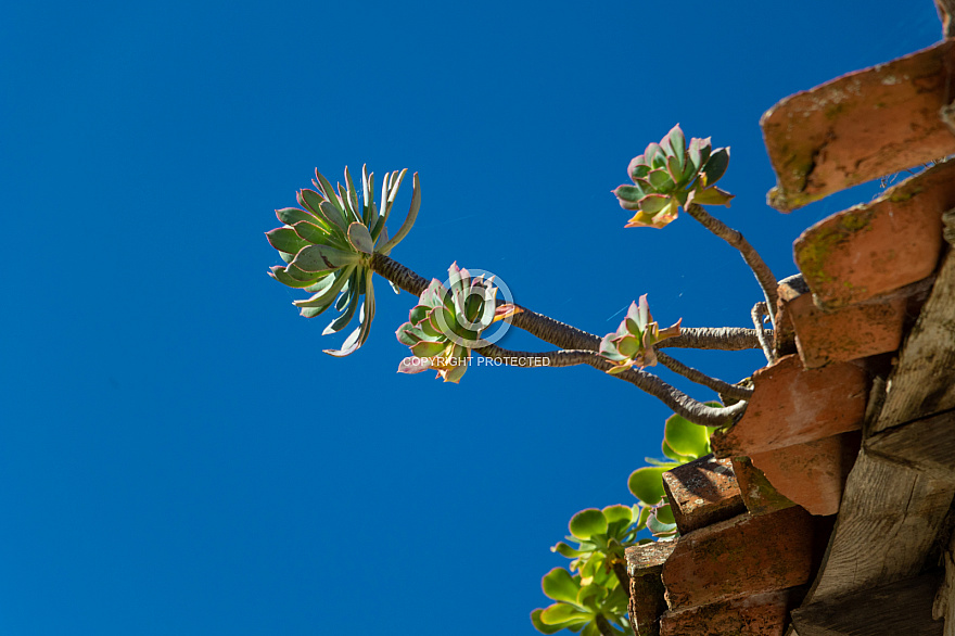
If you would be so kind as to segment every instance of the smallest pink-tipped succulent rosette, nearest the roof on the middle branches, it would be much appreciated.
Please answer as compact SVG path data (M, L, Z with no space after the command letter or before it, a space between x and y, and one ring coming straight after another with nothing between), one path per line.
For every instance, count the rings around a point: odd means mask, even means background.
M616 331L608 333L600 341L598 353L613 362L608 373L623 373L631 367L652 367L657 364L657 354L653 345L667 338L679 335L679 323L666 329L660 326L650 316L650 307L647 304L647 294L640 296L639 304L631 303L626 317L620 323Z

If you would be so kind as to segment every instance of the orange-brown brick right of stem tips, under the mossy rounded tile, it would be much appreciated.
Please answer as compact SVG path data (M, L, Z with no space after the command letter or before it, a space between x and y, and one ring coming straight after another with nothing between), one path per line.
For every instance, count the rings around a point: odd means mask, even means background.
M904 296L825 311L812 295L782 301L795 330L795 346L807 369L893 352L902 343Z

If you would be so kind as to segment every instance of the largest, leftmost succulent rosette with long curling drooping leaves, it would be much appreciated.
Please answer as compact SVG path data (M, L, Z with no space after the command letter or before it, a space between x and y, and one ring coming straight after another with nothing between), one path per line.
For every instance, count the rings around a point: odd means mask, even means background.
M374 203L374 174L361 167L362 200L345 168L345 186L338 191L318 170L315 190L297 193L297 207L276 211L284 225L266 232L269 243L279 251L284 266L275 266L269 276L291 288L310 292L311 297L294 301L302 316L313 318L330 307L340 315L322 335L344 329L358 313L358 327L345 339L341 349L324 349L333 356L346 356L368 339L374 318L374 290L371 284L371 257L389 254L404 239L418 216L421 188L418 174L413 177L411 208L398 233L389 239L385 222L407 170L385 173L381 189L381 207ZM395 293L398 289L392 288Z

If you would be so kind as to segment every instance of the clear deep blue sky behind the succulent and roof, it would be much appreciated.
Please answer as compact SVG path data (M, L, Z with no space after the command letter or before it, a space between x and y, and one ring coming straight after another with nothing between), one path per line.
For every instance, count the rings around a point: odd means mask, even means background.
M407 167L393 256L426 278L483 268L599 334L644 293L666 325L747 326L729 247L623 229L628 161L676 123L730 145L717 215L792 274L799 232L877 187L766 207L760 115L941 29L928 0L674 7L8 7L0 632L533 634L549 546L633 503L666 408L590 368L397 376L415 303L381 279L370 341L331 358L263 232L316 167Z

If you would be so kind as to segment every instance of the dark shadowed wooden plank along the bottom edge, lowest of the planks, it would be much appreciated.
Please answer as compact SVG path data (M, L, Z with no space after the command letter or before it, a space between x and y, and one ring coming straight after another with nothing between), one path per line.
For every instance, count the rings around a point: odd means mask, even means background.
M865 589L792 611L800 636L942 636L932 619L938 574Z

